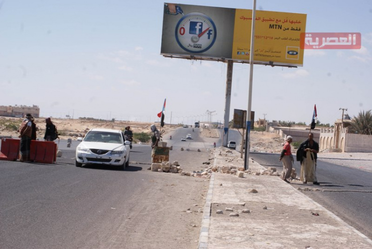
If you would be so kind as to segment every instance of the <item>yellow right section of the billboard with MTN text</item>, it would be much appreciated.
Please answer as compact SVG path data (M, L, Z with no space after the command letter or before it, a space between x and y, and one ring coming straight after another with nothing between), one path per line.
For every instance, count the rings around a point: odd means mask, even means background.
M257 10L254 24L254 63L302 66L306 14ZM249 60L251 27L252 10L236 9L232 59Z

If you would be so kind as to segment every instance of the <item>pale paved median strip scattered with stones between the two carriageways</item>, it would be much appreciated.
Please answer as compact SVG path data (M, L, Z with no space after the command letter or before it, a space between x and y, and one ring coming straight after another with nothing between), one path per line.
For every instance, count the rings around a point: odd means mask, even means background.
M242 167L219 153L214 165ZM265 168L250 160L249 169ZM372 248L370 239L278 176L213 173L203 217L199 249Z

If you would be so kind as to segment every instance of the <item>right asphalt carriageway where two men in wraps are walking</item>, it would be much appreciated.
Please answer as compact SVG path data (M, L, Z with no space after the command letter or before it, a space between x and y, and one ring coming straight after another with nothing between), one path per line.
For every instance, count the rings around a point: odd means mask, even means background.
M283 169L279 154L251 152L249 157L266 168ZM295 161L294 168L299 177L300 163ZM372 173L322 160L318 160L316 172L320 186L300 181L292 185L323 190L302 192L372 239Z

